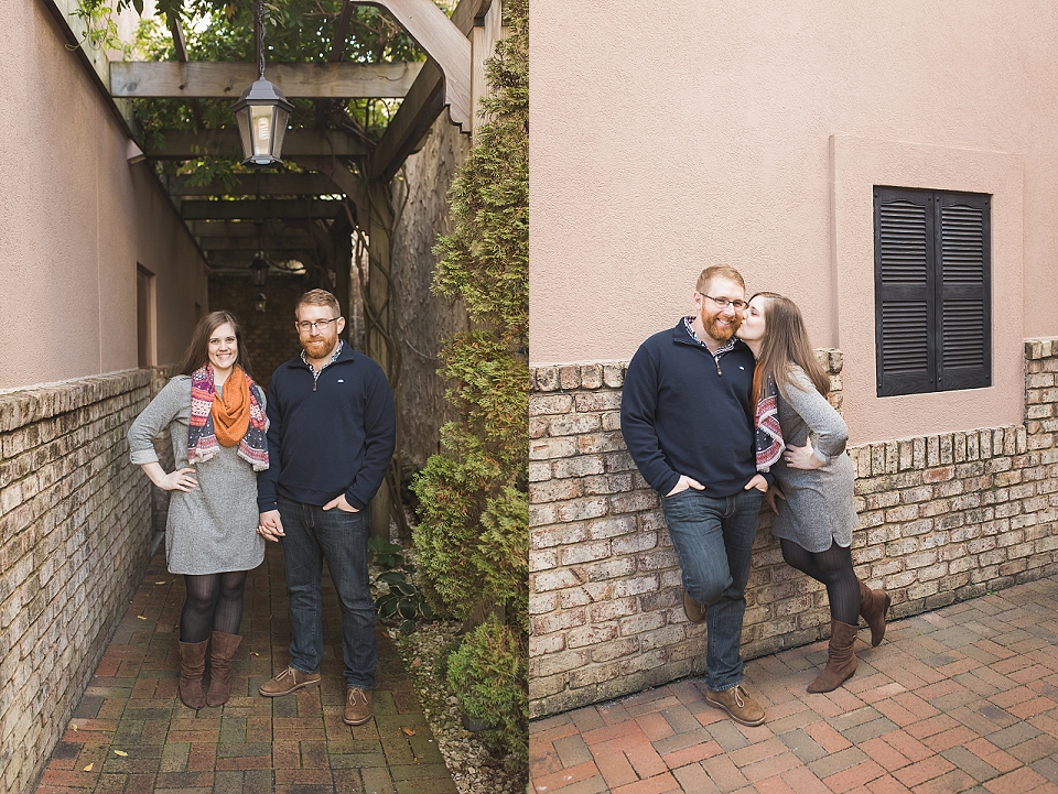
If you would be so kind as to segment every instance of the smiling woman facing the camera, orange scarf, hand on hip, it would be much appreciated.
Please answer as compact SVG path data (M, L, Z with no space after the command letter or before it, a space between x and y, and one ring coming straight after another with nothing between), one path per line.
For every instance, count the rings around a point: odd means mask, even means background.
M246 575L264 559L257 534L257 472L268 468L264 393L248 374L238 322L228 312L198 320L180 374L129 429L132 463L172 491L165 558L183 574L187 598L180 616L180 699L194 709L230 695L239 646ZM169 428L176 468L166 474L153 439ZM209 654L209 689L202 679Z

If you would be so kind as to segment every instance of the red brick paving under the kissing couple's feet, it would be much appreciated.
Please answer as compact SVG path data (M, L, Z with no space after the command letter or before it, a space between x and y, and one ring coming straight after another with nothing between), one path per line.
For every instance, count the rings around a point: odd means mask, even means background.
M861 637L868 637L867 632ZM893 622L844 687L824 643L747 665L745 728L684 679L530 726L536 794L1058 792L1058 577Z

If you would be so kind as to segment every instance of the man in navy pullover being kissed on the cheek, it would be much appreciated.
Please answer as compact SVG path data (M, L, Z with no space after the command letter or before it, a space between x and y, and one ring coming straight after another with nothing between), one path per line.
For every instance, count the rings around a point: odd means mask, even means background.
M754 359L734 337L746 285L734 268L702 271L698 313L647 339L628 365L620 429L640 474L661 496L692 622L704 620L705 698L743 725L764 709L742 685L742 622L760 499Z

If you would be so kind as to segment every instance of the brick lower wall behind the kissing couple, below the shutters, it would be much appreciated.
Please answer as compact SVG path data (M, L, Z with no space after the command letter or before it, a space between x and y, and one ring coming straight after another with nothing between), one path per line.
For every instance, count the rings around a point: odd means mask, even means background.
M841 404L841 354L820 351ZM904 617L1058 570L1058 339L1030 340L1026 421L850 448L856 573ZM658 496L619 431L625 365L532 372L530 708L562 711L704 672ZM747 657L813 642L821 585L782 562L762 513L747 590Z

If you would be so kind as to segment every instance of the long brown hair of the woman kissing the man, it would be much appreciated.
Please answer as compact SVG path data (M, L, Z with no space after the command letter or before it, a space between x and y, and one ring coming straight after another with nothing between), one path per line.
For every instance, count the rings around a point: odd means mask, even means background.
M797 304L775 292L758 292L749 300L754 297L763 297L767 302L764 309L764 339L757 357L757 369L753 373L754 401L760 400L760 390L768 382L768 376L771 376L780 391L786 391L791 384L798 385L790 377L794 365L805 370L816 390L827 396L830 377L816 358Z

